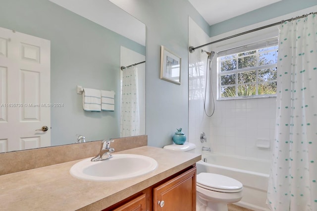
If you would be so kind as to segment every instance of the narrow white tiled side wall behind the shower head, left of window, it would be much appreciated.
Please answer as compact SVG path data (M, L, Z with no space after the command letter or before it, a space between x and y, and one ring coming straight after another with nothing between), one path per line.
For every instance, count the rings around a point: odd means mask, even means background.
M209 42L209 36L189 18L189 45L200 46ZM208 47L203 48L210 51ZM200 50L189 54L189 136L188 140L196 144L196 153L202 153L202 147L211 147L211 119L204 114L205 87L201 84L206 80L207 54L201 53ZM193 68L191 68L193 67ZM208 101L207 101L208 102ZM207 105L206 107L209 107ZM211 113L211 111L208 111ZM220 116L219 116L220 117ZM225 122L222 122L224 129ZM217 123L218 123L217 122ZM224 130L222 130L225 132ZM201 132L206 133L207 143L200 142ZM215 149L211 149L215 151Z

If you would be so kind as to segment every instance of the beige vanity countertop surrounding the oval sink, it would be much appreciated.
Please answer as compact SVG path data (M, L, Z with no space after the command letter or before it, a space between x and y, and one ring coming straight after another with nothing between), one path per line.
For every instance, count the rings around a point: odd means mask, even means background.
M1 210L102 210L196 163L198 154L138 147L114 154L154 158L154 171L132 179L96 182L74 178L70 167L80 160L0 176Z

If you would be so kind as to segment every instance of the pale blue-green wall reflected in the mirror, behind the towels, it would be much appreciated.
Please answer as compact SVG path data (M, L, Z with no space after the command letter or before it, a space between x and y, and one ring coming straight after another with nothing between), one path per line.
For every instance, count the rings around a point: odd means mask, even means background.
M145 47L48 0L0 0L0 27L51 41L52 145L119 137L120 46ZM86 112L76 86L116 92L114 112ZM12 102L14 103L14 102ZM16 102L18 103L18 102Z

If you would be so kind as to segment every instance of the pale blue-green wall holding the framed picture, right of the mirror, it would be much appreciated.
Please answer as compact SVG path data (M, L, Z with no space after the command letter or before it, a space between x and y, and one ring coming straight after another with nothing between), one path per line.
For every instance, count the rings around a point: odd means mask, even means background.
M163 147L176 128L188 137L188 18L209 26L188 0L134 0L124 9L147 27L146 132L150 146ZM181 56L181 85L159 79L161 45Z

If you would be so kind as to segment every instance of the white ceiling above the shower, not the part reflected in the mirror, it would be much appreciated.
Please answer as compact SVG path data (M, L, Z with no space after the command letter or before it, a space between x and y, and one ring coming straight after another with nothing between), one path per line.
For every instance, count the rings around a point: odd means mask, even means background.
M209 25L242 15L280 0L189 0Z

